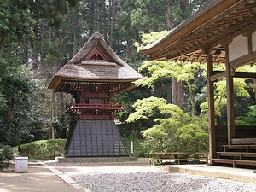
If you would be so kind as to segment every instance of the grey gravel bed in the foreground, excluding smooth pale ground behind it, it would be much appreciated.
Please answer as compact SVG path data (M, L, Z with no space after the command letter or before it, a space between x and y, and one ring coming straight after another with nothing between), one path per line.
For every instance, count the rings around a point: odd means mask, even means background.
M113 191L256 191L256 184L201 177L183 173L136 172L136 173L95 173L71 176L93 192Z

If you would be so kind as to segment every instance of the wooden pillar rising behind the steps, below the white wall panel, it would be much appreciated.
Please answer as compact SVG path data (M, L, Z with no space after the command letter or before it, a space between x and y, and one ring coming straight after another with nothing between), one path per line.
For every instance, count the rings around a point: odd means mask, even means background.
M228 144L232 143L235 137L235 103L234 103L234 82L230 74L229 47L226 46L226 84L227 84L227 127L228 127ZM234 72L235 73L235 72Z

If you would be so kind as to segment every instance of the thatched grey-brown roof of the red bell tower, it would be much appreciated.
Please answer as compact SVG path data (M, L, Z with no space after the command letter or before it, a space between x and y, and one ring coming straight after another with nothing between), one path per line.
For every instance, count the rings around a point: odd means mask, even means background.
M116 55L102 35L94 33L83 48L60 69L49 83L56 89L61 80L83 82L133 82L142 78Z

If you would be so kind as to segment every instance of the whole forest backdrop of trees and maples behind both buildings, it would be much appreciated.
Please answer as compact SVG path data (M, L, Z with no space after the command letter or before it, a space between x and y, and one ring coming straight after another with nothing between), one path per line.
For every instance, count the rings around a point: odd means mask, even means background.
M0 143L67 137L69 117L63 112L71 96L47 87L90 35L100 32L144 77L136 89L113 97L124 103L121 135L145 139L148 151L208 150L206 64L148 62L137 51L206 2L0 0ZM215 83L217 125L226 125L224 82ZM238 79L235 87L236 125L256 125L255 80Z

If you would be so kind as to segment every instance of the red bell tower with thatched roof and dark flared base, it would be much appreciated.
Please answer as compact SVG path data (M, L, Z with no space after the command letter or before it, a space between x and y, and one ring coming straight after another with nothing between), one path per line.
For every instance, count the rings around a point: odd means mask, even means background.
M102 35L94 33L86 44L55 73L49 89L67 92L73 100L66 113L73 123L64 148L66 157L128 156L114 123L122 103L111 97L135 87L142 76L116 55Z

